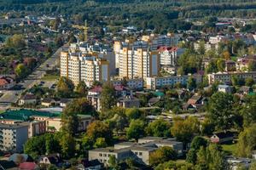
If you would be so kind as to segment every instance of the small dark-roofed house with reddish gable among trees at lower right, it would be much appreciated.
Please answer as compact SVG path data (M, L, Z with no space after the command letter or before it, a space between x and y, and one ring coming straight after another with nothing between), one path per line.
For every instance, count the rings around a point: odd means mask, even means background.
M223 144L226 142L231 142L234 139L234 133L231 132L221 132L221 133L213 133L211 137L211 142L212 143L217 143L217 144Z

